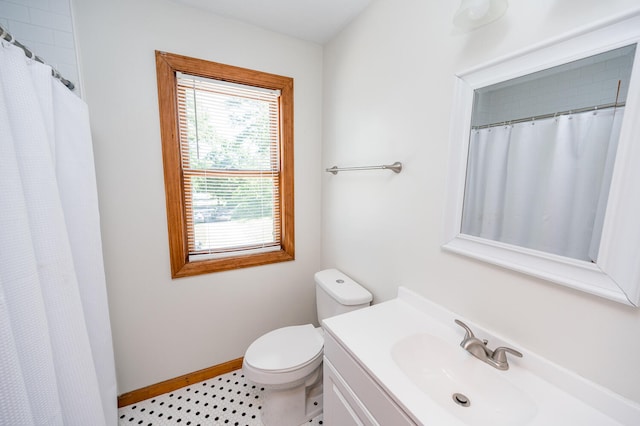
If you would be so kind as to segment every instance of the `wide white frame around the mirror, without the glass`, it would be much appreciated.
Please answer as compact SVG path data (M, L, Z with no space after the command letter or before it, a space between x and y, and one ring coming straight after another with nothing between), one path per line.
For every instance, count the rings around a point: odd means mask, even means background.
M460 233L474 90L634 43L640 44L640 10L456 75L443 249L639 306L640 47L634 59L597 263Z

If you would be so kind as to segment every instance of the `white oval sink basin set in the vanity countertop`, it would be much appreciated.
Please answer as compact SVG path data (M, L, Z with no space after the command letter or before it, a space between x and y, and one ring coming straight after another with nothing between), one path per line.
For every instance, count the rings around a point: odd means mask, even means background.
M485 364L456 343L414 334L396 342L391 356L414 385L465 424L526 425L536 416L533 399L505 379L510 371Z

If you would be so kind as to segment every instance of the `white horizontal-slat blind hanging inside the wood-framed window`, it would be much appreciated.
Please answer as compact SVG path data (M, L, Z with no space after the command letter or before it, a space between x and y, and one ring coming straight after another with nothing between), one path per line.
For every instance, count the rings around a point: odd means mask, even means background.
M280 249L278 91L178 73L190 260Z

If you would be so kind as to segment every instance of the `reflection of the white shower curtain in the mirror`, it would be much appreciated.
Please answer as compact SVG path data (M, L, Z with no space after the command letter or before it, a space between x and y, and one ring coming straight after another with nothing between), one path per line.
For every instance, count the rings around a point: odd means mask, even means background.
M462 233L595 261L622 115L472 130Z

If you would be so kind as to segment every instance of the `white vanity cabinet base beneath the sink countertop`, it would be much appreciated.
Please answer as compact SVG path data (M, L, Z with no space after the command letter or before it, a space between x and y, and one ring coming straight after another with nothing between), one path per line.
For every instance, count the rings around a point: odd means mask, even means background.
M324 424L416 425L344 347L325 332Z

